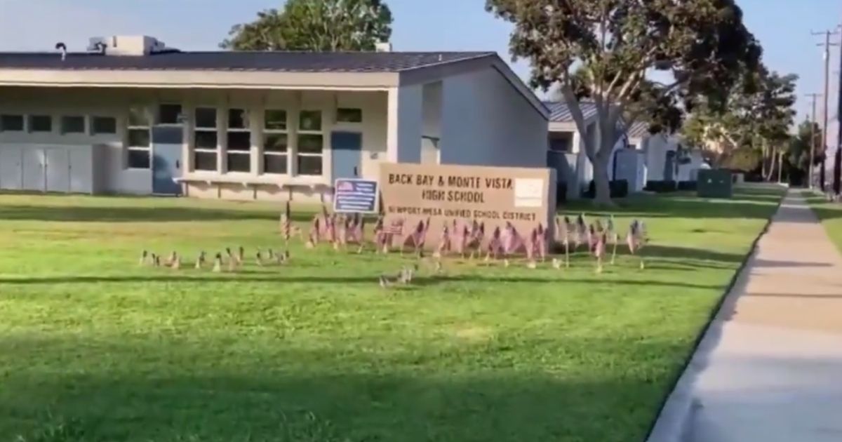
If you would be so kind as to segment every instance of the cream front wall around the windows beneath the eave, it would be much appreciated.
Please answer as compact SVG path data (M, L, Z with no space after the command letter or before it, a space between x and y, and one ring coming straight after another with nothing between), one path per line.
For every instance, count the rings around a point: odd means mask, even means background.
M329 91L255 91L255 90L169 90L169 89L103 89L103 88L2 88L0 102L2 114L51 114L53 130L50 133L3 132L0 131L0 146L19 144L53 144L91 146L103 145L103 164L105 189L117 193L149 194L152 192L152 171L149 169L129 169L125 167L126 122L130 104L148 105L151 109L159 103L182 104L183 113L192 116L195 106L213 106L221 114L221 121L226 120L225 112L229 107L250 109L253 128L262 127L263 110L285 109L290 126L290 150L295 149L295 137L292 127L297 125L297 113L301 109L322 111L323 166L321 177L307 177L309 183L329 184L331 174L330 133L333 130L359 131L362 134L363 152L360 175L365 178L377 178L379 163L386 161L386 92L329 92ZM344 123L336 121L336 109L340 107L359 108L362 110L362 123ZM61 134L59 119L61 115L85 115L86 126L91 115L113 116L116 119L117 133L106 136L83 134ZM189 170L192 163L192 150L189 146L192 136L190 122L184 125L184 170ZM275 183L289 181L289 175L259 173L262 165L262 139L253 130L253 168L251 173L201 172L209 178L230 178L269 180ZM224 157L224 130L218 136L220 145L218 156ZM290 157L289 164L294 161ZM258 167L255 167L257 165Z

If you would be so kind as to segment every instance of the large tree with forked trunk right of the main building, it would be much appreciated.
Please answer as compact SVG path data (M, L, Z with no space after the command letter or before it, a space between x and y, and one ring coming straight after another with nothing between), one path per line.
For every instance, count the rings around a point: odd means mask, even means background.
M487 0L486 8L514 24L512 56L531 62L533 87L559 84L581 133L587 130L574 88L588 89L599 139L585 137L584 147L598 204L610 204L608 162L621 136L616 125L646 87L647 74L669 72L669 82L652 83L657 98L673 95L690 108L690 98L706 95L722 105L717 92L743 69L754 69L761 52L733 0ZM574 76L576 70L584 75Z

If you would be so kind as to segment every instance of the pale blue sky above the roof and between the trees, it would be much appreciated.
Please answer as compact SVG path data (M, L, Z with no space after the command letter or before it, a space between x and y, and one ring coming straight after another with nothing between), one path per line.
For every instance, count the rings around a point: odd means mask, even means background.
M64 41L81 51L93 35L147 34L183 50L214 50L232 24L281 0L0 0L0 51L49 51ZM483 9L484 0L386 0L395 16L396 51L498 51L509 60L509 24ZM800 77L804 93L822 92L821 39L810 35L842 22L839 0L738 0L765 47L765 61ZM838 42L839 37L834 37ZM832 71L839 70L839 48ZM524 62L514 64L522 77ZM835 83L832 88L835 90ZM835 97L833 91L831 97ZM834 108L835 100L830 107ZM819 106L821 109L821 106ZM831 112L835 115L835 112Z

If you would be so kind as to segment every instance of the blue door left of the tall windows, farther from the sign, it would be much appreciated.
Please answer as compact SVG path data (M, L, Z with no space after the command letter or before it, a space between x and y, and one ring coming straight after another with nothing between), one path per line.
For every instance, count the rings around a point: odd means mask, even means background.
M152 193L181 194L181 184L173 180L181 177L181 149L180 127L152 128Z

